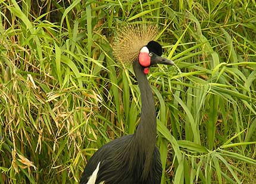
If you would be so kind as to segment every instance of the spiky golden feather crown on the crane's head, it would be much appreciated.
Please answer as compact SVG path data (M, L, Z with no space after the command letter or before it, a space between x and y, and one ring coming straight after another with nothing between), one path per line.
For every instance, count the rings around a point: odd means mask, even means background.
M124 64L138 58L141 48L157 37L158 28L154 25L128 25L117 31L113 43L115 59Z

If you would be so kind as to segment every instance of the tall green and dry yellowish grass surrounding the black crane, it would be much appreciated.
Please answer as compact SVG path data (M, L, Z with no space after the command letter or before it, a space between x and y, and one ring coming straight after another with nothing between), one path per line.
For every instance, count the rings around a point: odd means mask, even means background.
M148 80L162 183L256 183L256 3L0 1L0 182L77 183L132 134L141 101L111 51L118 27L157 24L177 67Z

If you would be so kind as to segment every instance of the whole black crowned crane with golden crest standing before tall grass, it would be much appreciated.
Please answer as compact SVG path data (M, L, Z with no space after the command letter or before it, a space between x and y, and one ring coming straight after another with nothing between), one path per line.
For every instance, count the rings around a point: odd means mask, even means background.
M155 103L146 74L149 66L174 63L161 57L163 48L153 41L156 36L155 26L126 26L117 33L113 53L118 61L133 65L141 91L141 121L134 134L114 139L93 154L83 171L81 184L161 183Z

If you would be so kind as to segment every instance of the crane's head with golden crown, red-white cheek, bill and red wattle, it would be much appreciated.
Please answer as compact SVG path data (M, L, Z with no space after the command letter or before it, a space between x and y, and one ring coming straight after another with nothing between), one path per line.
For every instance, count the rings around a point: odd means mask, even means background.
M124 64L139 62L144 67L145 74L148 74L149 66L155 64L174 65L173 61L161 57L163 48L153 41L157 33L157 27L152 25L129 25L121 28L113 43L115 58Z

